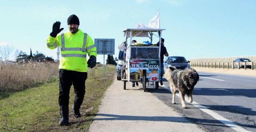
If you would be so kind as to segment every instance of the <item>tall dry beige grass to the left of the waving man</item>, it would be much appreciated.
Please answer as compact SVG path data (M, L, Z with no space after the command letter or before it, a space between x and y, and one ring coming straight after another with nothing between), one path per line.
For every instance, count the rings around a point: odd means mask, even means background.
M1 64L0 93L12 93L57 80L58 64L26 63ZM1 97L1 96L0 96Z

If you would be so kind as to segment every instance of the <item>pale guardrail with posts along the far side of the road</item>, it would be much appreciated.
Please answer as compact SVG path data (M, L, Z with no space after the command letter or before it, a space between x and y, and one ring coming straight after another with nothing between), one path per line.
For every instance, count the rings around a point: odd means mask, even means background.
M192 67L205 67L205 68L227 68L227 69L252 69L256 68L255 62L190 62Z

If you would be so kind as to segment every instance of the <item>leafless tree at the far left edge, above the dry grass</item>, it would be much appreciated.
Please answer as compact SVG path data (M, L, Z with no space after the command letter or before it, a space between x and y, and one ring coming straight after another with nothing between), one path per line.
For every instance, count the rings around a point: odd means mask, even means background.
M4 61L8 61L12 56L12 52L14 50L14 46L9 46L9 45L3 45L0 46L0 57Z

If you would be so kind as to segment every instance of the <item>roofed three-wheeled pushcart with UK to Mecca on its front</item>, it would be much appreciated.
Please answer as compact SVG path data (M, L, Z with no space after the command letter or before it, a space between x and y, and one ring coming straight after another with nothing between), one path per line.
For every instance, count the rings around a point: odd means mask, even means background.
M123 31L126 38L124 65L121 68L121 80L124 82L124 90L126 90L126 82L131 81L141 82L144 92L146 92L147 82L154 83L154 87L158 89L163 30L165 29L127 28ZM153 36L156 38L156 44L152 44ZM134 37L146 37L146 39L149 38L149 41L132 44Z

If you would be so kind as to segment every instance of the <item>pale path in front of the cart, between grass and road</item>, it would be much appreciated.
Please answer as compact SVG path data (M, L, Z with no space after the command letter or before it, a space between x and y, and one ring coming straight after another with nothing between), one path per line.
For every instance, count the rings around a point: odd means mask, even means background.
M97 116L89 132L204 132L179 116L150 92L143 92L141 84L132 88L131 82L114 80L107 89Z

